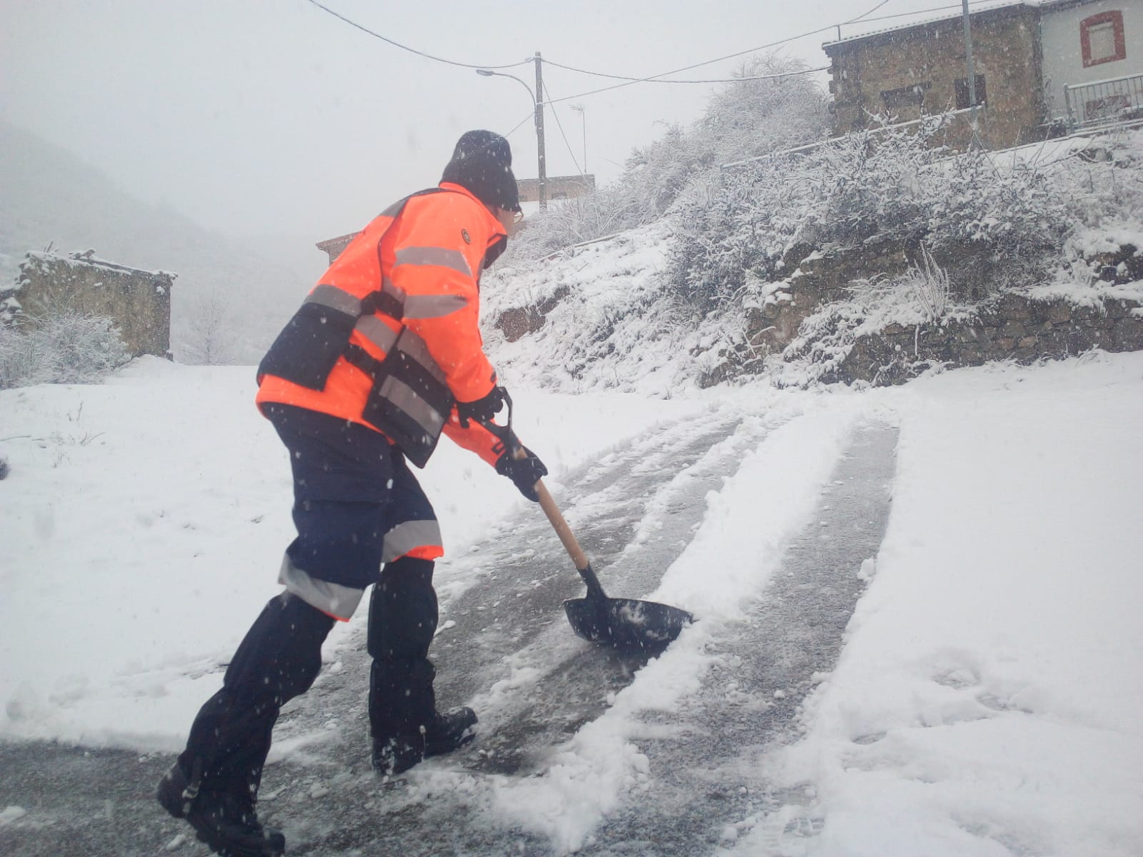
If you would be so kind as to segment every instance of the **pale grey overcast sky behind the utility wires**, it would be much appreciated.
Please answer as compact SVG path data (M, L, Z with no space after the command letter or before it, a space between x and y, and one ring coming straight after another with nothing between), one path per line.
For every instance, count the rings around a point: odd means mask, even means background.
M957 0L321 0L363 27L550 99L773 42L812 66L838 23ZM320 240L440 178L471 128L510 134L536 175L531 95L369 35L310 0L3 0L0 115L81 155L126 191L232 235ZM974 8L977 5L974 3ZM886 19L864 25L884 27ZM818 31L818 32L814 32ZM842 35L860 32L856 25ZM732 77L745 57L674 75ZM824 73L817 75L824 83ZM547 174L606 184L663 122L697 119L714 85L637 83L546 109ZM575 112L572 104L583 106ZM562 127L562 134L561 134ZM514 129L514 130L513 130ZM566 142L565 142L566 136ZM577 166L578 162L578 166Z

